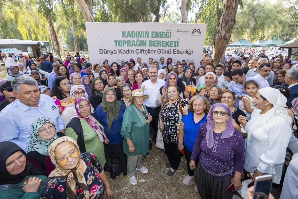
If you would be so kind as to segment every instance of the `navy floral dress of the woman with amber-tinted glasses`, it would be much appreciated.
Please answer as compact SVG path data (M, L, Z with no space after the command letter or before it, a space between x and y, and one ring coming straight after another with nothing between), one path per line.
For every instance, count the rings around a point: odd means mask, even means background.
M95 157L94 154L90 153L96 162L96 167L93 166L91 161L85 156L81 154L81 160L83 160L86 165L87 169L84 172L84 177L89 187L90 196L93 199L103 199L105 198L103 192L103 182L100 179L99 173L103 170L102 166L100 165L99 161ZM59 199L66 199L66 183L64 178L49 178L46 181L46 185L44 186L43 191L41 192L41 199L52 199L52 198L59 198ZM84 198L83 189L76 183L76 194L75 199L82 199Z

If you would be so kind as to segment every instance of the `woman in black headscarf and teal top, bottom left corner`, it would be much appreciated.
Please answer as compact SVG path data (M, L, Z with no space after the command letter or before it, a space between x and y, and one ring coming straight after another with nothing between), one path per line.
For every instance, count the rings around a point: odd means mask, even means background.
M0 142L0 199L38 199L46 184L46 173L29 163L26 153L13 142Z

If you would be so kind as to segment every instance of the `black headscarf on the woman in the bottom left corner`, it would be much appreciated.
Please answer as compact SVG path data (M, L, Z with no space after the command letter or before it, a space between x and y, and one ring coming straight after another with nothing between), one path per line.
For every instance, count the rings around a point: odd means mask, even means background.
M18 175L11 175L6 169L6 160L15 152L21 151L26 156L25 170ZM13 142L0 142L0 185L20 183L28 175L46 175L44 170L38 169L29 163L26 153Z

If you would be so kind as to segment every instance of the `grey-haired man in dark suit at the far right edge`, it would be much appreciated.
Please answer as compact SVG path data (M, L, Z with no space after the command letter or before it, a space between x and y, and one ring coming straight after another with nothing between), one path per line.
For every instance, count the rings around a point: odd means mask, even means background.
M298 97L298 68L290 68L285 73L285 83L288 84L290 90L290 98L288 99L289 107L292 107L292 100Z

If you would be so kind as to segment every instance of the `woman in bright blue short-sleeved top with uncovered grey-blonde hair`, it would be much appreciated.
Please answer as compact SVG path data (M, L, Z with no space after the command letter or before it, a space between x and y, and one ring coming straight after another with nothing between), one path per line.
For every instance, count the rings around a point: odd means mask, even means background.
M184 114L181 119L178 149L184 151L188 171L187 176L183 179L184 185L189 185L195 172L195 169L190 170L189 167L190 156L193 152L193 144L197 138L198 130L202 123L207 122L206 117L209 109L207 98L200 94L195 95L188 104L188 114ZM199 158L195 160L195 164L198 163L198 160Z

